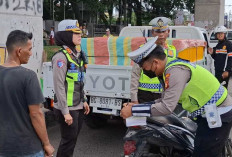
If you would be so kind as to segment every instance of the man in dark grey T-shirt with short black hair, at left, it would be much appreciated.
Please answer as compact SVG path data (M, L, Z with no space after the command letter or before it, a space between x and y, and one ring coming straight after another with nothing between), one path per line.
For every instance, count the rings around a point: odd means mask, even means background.
M38 78L27 64L32 34L12 31L6 41L8 58L0 66L0 157L51 157L40 104L44 101ZM45 153L45 154L44 154Z

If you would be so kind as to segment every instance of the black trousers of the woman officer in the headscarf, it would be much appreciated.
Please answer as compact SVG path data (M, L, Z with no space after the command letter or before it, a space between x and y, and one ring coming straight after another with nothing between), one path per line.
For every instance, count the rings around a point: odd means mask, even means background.
M68 125L60 110L54 108L54 113L58 119L61 132L61 141L57 151L57 157L72 157L76 145L78 134L81 130L84 110L69 111L73 118L73 123Z

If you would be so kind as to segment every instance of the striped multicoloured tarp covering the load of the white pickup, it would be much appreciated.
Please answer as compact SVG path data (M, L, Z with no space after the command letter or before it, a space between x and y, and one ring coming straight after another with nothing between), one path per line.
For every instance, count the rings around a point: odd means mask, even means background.
M149 39L148 39L149 40ZM127 53L134 51L139 48L140 45L144 44L146 39L144 37L96 37L96 38L83 38L81 40L81 48L88 56L89 64L98 65L131 65L132 61L127 56ZM172 44L176 47L177 52L182 56L191 58L194 55L196 47L204 47L205 43L203 40L184 40L184 39L168 39L168 44ZM186 51L188 48L194 48L190 51ZM184 53L183 53L183 50ZM198 54L200 54L198 52ZM187 54L187 55L186 55ZM203 58L201 53L199 57L192 59L199 60Z

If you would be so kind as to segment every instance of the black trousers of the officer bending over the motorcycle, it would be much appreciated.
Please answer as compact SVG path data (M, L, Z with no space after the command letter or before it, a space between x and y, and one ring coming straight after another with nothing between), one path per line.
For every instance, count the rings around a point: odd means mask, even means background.
M196 122L193 157L221 157L232 121L222 122L222 127L214 129L209 128L206 118L199 117Z

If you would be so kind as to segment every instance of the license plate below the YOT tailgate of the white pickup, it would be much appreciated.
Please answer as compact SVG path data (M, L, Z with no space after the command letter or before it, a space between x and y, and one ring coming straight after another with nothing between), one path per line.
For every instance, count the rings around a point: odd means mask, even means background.
M121 110L122 99L91 96L90 106Z

